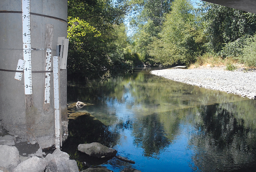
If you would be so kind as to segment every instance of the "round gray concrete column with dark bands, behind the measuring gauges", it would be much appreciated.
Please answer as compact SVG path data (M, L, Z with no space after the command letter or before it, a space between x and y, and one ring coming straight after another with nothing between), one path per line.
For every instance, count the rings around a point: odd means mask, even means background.
M25 103L24 74L14 79L18 59L23 59L22 0L0 1L0 120L11 134L37 141L42 148L55 144L53 73L50 105L44 107L46 39L51 26L52 60L58 37L67 37L67 0L30 1L32 96ZM52 64L53 67L53 64ZM67 71L60 71L61 122L67 121ZM28 104L29 102L29 104ZM67 122L64 122L67 124ZM62 131L62 126L61 133Z

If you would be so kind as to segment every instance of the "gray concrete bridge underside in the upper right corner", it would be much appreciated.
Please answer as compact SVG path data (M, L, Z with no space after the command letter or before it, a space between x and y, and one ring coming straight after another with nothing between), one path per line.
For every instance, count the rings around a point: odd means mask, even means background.
M203 0L237 10L256 13L256 0Z

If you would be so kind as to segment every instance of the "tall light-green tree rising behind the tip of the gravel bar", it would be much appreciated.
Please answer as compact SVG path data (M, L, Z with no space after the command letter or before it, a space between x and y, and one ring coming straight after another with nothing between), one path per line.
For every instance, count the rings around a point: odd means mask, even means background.
M155 38L148 47L153 61L166 66L195 61L202 40L197 38L200 35L200 25L197 25L193 12L194 8L189 0L173 2L172 11L166 15L159 34L160 39Z

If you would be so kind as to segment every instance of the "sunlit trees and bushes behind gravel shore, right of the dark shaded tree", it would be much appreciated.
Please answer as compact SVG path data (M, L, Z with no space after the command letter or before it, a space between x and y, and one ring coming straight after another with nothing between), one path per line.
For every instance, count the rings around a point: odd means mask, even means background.
M153 4L157 3L161 4L160 1ZM242 59L246 65L254 66L245 59L251 49L248 44L254 43L251 36L256 32L256 14L203 1L197 8L190 0L174 0L168 5L158 20L161 22L149 17L152 10L143 5L139 14L131 18L131 26L136 29L133 50L142 60L165 66L190 65L206 54Z

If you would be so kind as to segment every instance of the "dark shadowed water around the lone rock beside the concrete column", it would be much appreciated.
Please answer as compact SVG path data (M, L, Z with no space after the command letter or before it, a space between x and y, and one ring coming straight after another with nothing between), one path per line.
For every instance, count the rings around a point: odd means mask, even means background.
M75 120L70 119L68 129L69 137L63 144L62 151L67 152L71 159L99 165L112 158L92 158L77 150L77 146L84 143L98 142L111 148L117 144L118 133L109 131L108 126L94 116L79 116Z

